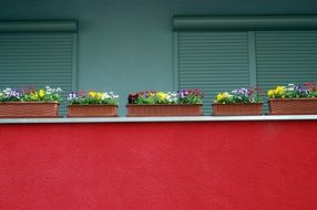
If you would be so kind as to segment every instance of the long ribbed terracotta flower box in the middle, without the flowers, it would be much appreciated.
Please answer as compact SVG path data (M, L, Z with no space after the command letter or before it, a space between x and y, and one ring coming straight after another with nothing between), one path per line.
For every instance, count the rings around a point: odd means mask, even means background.
M127 117L201 116L202 104L127 104Z

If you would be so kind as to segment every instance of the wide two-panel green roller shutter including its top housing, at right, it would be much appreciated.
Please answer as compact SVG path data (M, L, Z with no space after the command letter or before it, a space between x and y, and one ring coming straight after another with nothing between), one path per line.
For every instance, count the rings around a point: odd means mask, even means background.
M201 88L206 114L219 91L317 81L317 15L174 17L173 30L174 88Z

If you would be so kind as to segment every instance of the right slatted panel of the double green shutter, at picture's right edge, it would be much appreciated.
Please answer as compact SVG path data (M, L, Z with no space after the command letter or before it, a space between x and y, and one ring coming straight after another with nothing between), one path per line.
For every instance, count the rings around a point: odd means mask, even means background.
M255 44L257 84L265 92L317 81L317 31L257 31Z

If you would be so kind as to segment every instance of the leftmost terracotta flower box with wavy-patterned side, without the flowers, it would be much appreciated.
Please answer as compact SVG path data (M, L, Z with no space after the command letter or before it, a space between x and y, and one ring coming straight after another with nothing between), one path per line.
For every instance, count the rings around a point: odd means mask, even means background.
M57 102L1 102L0 117L2 118L31 118L58 117L59 103Z

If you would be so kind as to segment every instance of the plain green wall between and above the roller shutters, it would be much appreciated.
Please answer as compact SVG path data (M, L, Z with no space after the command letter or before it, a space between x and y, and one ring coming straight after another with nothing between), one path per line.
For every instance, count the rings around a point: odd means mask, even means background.
M173 88L173 15L316 14L316 0L1 0L0 20L79 21L78 86Z

